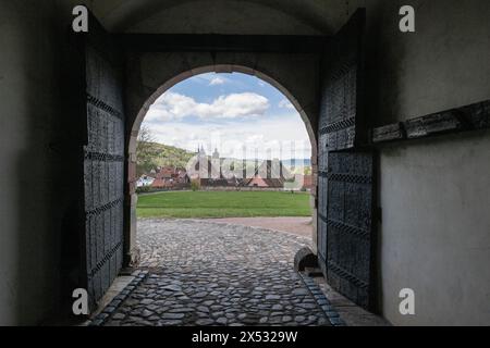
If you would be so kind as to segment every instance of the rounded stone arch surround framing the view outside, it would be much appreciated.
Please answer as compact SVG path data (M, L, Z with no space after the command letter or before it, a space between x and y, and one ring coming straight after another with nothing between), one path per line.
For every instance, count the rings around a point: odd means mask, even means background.
M169 90L174 85L183 82L192 76L196 76L204 73L210 72L226 72L226 73L243 73L248 75L254 75L277 88L281 91L294 105L296 111L299 113L303 122L305 123L306 130L308 133L308 137L311 145L311 175L313 175L313 187L311 187L311 198L310 206L313 211L313 246L316 249L316 239L317 239L317 231L316 231L316 220L317 220L317 207L316 207L316 195L317 195L317 136L316 136L316 124L315 114L311 114L308 108L304 108L298 98L295 98L292 91L286 88L283 84L279 83L277 78L271 77L270 74L267 74L262 71L258 71L256 69L250 69L240 64L213 64L213 65L204 65L192 69L189 71L184 71L175 76L163 82L155 91L152 91L146 101L143 103L143 107L138 110L136 116L131 124L126 125L128 129L131 129L128 134L127 140L127 197L126 201L130 202L127 204L126 210L126 236L125 236L125 252L130 256L130 260L134 260L135 256L137 256L136 249L136 204L137 204L137 195L136 195L136 145L137 145L137 136L139 133L139 128L142 122L147 114L150 105L167 90ZM131 97L130 97L131 98ZM314 122L313 122L314 120Z

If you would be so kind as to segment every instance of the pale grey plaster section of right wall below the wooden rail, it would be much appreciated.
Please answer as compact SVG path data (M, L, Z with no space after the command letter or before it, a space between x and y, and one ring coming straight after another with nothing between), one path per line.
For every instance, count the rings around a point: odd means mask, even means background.
M490 132L381 154L383 314L394 324L490 324ZM399 313L401 288L416 315Z

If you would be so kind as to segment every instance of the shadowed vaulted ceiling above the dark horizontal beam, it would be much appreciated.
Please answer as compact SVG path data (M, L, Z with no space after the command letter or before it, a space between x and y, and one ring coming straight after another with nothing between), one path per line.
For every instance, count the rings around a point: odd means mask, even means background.
M376 0L91 0L111 32L304 34L336 30Z

